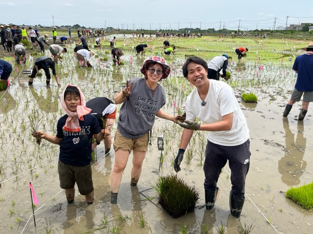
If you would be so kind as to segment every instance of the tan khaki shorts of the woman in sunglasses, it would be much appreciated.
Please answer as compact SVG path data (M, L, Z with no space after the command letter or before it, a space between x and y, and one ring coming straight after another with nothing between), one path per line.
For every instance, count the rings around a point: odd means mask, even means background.
M119 131L116 130L113 148L115 152L118 149L125 150L125 151L128 150L129 153L131 153L132 150L147 152L148 142L149 142L149 132L139 138L129 139L129 138L123 137L119 133Z

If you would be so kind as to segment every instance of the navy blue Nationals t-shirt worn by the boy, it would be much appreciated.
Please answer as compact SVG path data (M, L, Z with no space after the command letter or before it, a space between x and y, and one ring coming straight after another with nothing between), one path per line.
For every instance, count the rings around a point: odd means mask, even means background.
M57 125L57 137L63 138L60 142L61 162L72 166L87 166L91 161L91 139L93 134L100 133L101 129L96 117L91 114L79 120L80 132L72 133L63 130L67 115L61 117Z

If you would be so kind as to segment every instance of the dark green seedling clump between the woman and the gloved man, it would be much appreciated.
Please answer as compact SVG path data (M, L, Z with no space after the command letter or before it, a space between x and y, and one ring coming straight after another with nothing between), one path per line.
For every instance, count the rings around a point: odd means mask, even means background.
M188 186L176 175L160 177L155 189L159 195L158 203L173 218L194 211L199 200L199 192L195 186Z

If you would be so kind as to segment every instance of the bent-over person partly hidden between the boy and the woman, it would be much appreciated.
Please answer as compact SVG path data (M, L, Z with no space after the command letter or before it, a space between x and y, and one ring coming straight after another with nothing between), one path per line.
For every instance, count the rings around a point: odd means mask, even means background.
M91 109L90 114L94 115L100 124L101 129L109 129L111 131L112 125L116 117L116 105L109 98L99 97L93 98L86 102L86 107ZM111 151L111 135L108 135L103 139L105 146L105 154ZM99 141L95 141L91 145L91 150L94 150Z

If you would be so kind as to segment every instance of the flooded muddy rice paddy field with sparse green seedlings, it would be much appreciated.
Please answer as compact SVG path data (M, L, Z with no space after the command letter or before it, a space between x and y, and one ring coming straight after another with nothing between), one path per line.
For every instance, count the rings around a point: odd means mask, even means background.
M116 46L124 53L121 57L124 65L116 66L112 62L109 46L112 36L116 36ZM34 78L33 86L28 86L28 75L22 71L31 70L34 60L43 53L30 55L33 51L27 50L25 65L15 64L10 54L2 57L12 63L13 72L11 86L0 92L0 233L218 234L224 227L228 234L236 234L240 233L240 222L243 227L253 226L250 233L254 234L313 233L312 211L285 196L289 188L310 184L313 180L312 107L309 106L303 121L297 120L301 102L293 106L288 117L282 116L296 80L293 61L304 53L301 48L308 45L308 40L167 38L177 48L175 56L167 56L162 48L164 38L112 36L102 37L100 48L93 48L95 38L87 38L89 48L96 54L91 59L92 68L79 66L73 52L75 39L68 39L68 52L62 55L63 62L59 62L56 69L61 87L53 77L50 86L46 86L43 71ZM135 56L134 47L144 43L148 44L145 56ZM238 46L249 49L247 56L240 60L235 54ZM56 134L57 121L65 114L61 94L67 84L79 86L87 100L95 97L113 100L126 80L143 78L140 68L145 59L160 55L171 66L170 76L161 82L167 95L164 111L181 114L185 98L194 88L182 76L181 67L186 58L199 56L209 61L222 54L229 57L227 70L232 78L221 82L227 82L233 88L250 130L251 163L240 222L229 215L228 165L218 181L220 194L215 209L205 210L202 163L206 134L201 131L194 133L178 173L187 184L198 189L197 209L178 219L162 210L154 186L159 176L176 174L173 165L182 129L159 118L152 129L152 145L137 187L130 186L131 155L117 204L110 203L110 175L115 155L113 150L105 155L102 142L97 146L96 160L92 162L94 204L87 205L85 196L79 195L77 188L75 202L67 204L57 172L59 147L45 140L38 145L31 136L33 130ZM51 56L47 49L45 56ZM258 102L245 103L241 98L243 93L255 94ZM157 137L164 139L162 152L158 151ZM32 206L29 182L37 195L38 205Z

